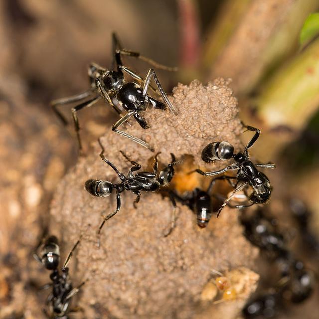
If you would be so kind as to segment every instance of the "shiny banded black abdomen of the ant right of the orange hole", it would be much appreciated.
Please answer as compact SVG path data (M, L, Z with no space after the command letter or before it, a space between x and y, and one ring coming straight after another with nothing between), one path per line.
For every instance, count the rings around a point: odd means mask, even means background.
M234 147L228 142L209 143L201 152L201 158L206 163L213 160L229 160L234 155Z

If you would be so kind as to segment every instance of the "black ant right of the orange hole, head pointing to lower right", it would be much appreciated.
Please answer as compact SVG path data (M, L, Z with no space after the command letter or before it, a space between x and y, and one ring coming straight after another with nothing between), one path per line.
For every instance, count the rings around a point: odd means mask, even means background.
M256 129L252 126L245 126L248 131L255 132L255 135L248 142L243 152L239 152L234 154L234 147L228 142L213 142L208 144L201 153L201 158L206 163L211 163L214 160L229 160L233 158L235 160L234 163L229 166L219 169L216 171L208 171L204 172L200 169L196 169L199 174L204 176L215 176L221 173L224 173L228 170L237 170L237 176L223 176L223 178L227 179L227 181L234 188L233 192L229 195L229 197L224 201L221 207L217 211L217 218L221 212L221 210L228 204L228 202L232 199L235 193L244 189L246 186L250 185L253 188L253 192L248 195L246 192L246 197L250 201L247 205L236 205L236 208L244 208L252 206L253 204L261 204L265 203L271 195L272 187L270 185L270 181L268 177L259 171L257 167L265 167L265 168L275 168L275 164L267 163L267 164L255 164L249 159L248 150L254 145L260 135L260 130ZM232 179L236 179L236 182L233 182ZM245 190L244 190L245 191Z

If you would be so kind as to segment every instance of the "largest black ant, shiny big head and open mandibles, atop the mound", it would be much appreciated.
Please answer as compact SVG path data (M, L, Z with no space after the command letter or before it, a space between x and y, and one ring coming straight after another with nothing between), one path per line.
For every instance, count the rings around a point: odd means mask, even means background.
M91 63L88 69L89 80L91 86L88 90L84 91L83 93L70 96L67 98L55 100L51 102L51 106L57 116L61 119L61 121L67 125L67 120L65 117L57 110L58 105L66 105L74 102L80 102L77 106L72 108L72 117L75 127L75 132L77 134L77 140L79 144L80 151L82 150L81 139L79 135L79 121L77 117L77 112L81 109L88 108L95 104L101 97L110 104L113 109L121 115L123 111L128 112L123 117L121 117L113 126L112 131L127 137L128 139L146 147L150 151L153 152L153 148L142 141L141 139L130 135L126 132L118 130L118 128L128 121L132 116L135 120L140 124L143 129L148 129L149 124L142 116L142 113L147 110L147 106L152 106L155 109L165 110L166 106L168 106L169 110L176 116L177 112L171 102L169 101L166 93L164 92L162 86L160 85L160 81L154 71L154 69L150 69L146 79L144 80L136 72L132 71L128 67L124 66L121 60L122 55L128 55L135 58L142 59L149 64L161 68L168 71L176 70L175 68L166 67L161 65L152 59L149 59L138 52L133 52L130 50L123 49L120 45L120 42L115 33L112 34L112 43L113 43L113 52L115 63L113 61L113 65L116 64L116 70L110 71L107 68L104 68L96 63ZM140 83L144 83L143 87L135 82L126 82L124 78L124 73L129 74L134 79L139 81ZM150 81L152 77L155 80L157 87L159 88L159 93L164 100L165 104L162 102L150 97L148 93L149 87L158 93L151 85ZM84 101L85 99L89 98L88 100Z

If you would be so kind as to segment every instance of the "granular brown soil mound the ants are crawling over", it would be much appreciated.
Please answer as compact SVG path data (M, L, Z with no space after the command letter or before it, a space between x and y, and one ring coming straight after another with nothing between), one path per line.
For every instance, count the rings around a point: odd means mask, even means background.
M230 141L236 148L240 145L237 136L242 128L227 82L220 79L205 87L193 81L189 87L178 85L173 92L178 117L150 112L152 129L142 134L143 138L152 137L150 142L162 152L162 163L169 160L169 152L177 158L193 155L200 163L201 148L216 139ZM142 129L134 125L130 132L141 134ZM152 158L150 151L111 130L102 142L108 158L124 172L129 165L119 150L141 162L144 169ZM83 186L89 178L117 180L98 153L96 146L95 154L81 159L67 174L51 209L53 233L65 243L83 236L77 269L79 277L89 278L79 300L85 318L192 318L202 308L198 304L201 291L214 275L213 270L252 267L257 250L242 236L235 210L225 209L218 221L212 218L210 227L200 230L194 214L179 206L176 228L165 238L172 206L168 198L162 199L157 193L142 193L137 209L133 207L135 196L123 193L122 209L107 222L102 246L97 249L100 214L115 208L115 198L93 197ZM256 283L257 277L252 278ZM249 285L250 291L254 289L255 285ZM234 318L244 301L233 302L236 311L228 318ZM220 313L228 307L223 305L218 306Z

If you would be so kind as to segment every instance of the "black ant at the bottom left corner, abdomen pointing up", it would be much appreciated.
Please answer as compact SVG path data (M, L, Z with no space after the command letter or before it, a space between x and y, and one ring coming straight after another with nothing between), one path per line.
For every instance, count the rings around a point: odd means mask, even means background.
M67 319L71 299L76 295L80 288L85 284L85 281L76 288L72 288L71 279L69 277L69 268L67 267L73 251L76 249L80 241L78 240L71 251L69 252L61 269L61 274L58 271L60 262L60 248L57 238L55 236L48 237L41 245L40 256L34 254L33 257L40 262L47 270L51 270L50 279L52 283L47 284L43 289L52 287L52 292L47 298L46 304L49 305L49 312L43 310L47 318ZM50 314L50 315L49 315Z

